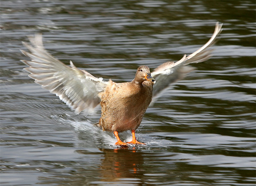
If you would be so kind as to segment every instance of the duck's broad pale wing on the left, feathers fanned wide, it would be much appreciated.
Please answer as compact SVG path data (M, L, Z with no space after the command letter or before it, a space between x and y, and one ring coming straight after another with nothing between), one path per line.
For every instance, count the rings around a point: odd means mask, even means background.
M42 34L35 37L28 37L31 45L22 42L30 51L21 52L28 56L31 61L21 60L29 67L24 68L30 74L30 78L42 88L49 90L59 96L68 107L78 114L81 111L93 112L93 109L100 103L98 93L102 92L108 82L102 78L95 78L84 70L79 70L70 61L70 67L49 54L42 41Z

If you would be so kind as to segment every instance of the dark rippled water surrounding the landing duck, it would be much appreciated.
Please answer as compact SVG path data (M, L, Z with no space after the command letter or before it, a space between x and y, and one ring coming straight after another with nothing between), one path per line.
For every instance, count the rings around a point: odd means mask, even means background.
M96 77L131 81L201 47L214 56L164 91L136 132L143 146L75 115L23 71L26 35ZM255 1L1 1L1 186L255 185ZM120 135L130 140L130 132Z

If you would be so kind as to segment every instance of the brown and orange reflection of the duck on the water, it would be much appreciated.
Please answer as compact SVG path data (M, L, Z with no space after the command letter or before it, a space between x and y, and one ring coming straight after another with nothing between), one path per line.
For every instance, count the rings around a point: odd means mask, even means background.
M104 152L101 162L102 181L116 181L120 178L140 178L143 157L135 147L132 149L100 149Z

